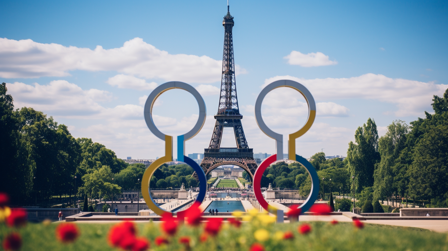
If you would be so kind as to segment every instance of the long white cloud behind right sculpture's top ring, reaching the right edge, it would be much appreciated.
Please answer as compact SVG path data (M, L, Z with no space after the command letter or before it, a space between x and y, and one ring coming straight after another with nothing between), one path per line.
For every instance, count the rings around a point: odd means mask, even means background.
M395 115L421 116L431 109L433 95L443 95L448 85L420 82L402 78L388 78L381 74L364 74L352 78L304 79L276 76L265 80L262 87L280 79L297 81L310 90L315 100L366 99L395 104Z

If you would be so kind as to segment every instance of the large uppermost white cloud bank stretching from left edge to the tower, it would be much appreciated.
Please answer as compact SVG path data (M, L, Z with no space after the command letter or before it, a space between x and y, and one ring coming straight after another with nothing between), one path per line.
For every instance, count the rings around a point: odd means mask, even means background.
M65 47L31 39L0 38L0 77L39 78L68 76L72 70L117 71L141 78L210 83L221 79L222 61L208 56L169 54L143 39L126 41L120 48ZM236 66L236 74L245 73Z

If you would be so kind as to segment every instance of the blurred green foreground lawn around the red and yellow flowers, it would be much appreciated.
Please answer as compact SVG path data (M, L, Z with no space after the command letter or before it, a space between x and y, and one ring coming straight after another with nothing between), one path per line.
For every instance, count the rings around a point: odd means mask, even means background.
M297 232L298 225L303 224L268 224L254 220L243 223L240 228L224 224L216 237L209 237L206 242L198 240L203 226L189 227L182 225L174 237L169 237L168 246L157 247L154 243L159 236L158 223L137 223L137 235L147 238L151 242L151 250L171 251L185 250L178 243L180 236L190 236L191 250L198 251L243 251L249 250L254 242L263 244L266 251L320 251L320 250L350 250L350 251L439 251L448 249L447 234L435 233L425 229L404 228L388 225L366 224L363 229L356 229L351 222L341 222L330 225L327 222L310 222L311 232L302 235ZM77 224L80 237L69 244L62 244L56 240L55 228L57 223L43 225L41 223L28 223L25 227L17 229L22 235L23 251L110 251L119 250L109 246L107 235L113 224L84 223ZM268 239L256 241L254 232L266 229ZM5 234L11 232L4 224L0 224L0 241ZM278 231L291 231L293 239L279 240ZM280 234L281 235L281 234Z

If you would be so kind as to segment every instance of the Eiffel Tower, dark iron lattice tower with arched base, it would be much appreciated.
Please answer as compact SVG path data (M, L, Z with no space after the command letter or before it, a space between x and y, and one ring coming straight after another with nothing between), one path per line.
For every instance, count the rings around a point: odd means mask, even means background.
M235 63L233 61L232 28L234 22L227 4L227 14L224 16L224 52L221 78L221 94L218 113L215 115L216 123L210 145L204 149L204 158L201 167L206 174L224 164L232 164L241 167L254 177L257 163L254 160L254 152L247 145L244 136L237 100L237 87L235 84ZM220 147L224 127L232 127L235 132L237 147Z

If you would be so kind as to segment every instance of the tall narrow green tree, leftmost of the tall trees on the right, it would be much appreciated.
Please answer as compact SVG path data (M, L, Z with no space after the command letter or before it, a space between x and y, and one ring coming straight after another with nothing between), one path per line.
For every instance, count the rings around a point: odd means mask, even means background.
M358 192L373 186L375 164L379 159L378 130L375 121L369 118L366 124L358 127L355 143L350 141L347 150L349 172L355 177L355 189Z

